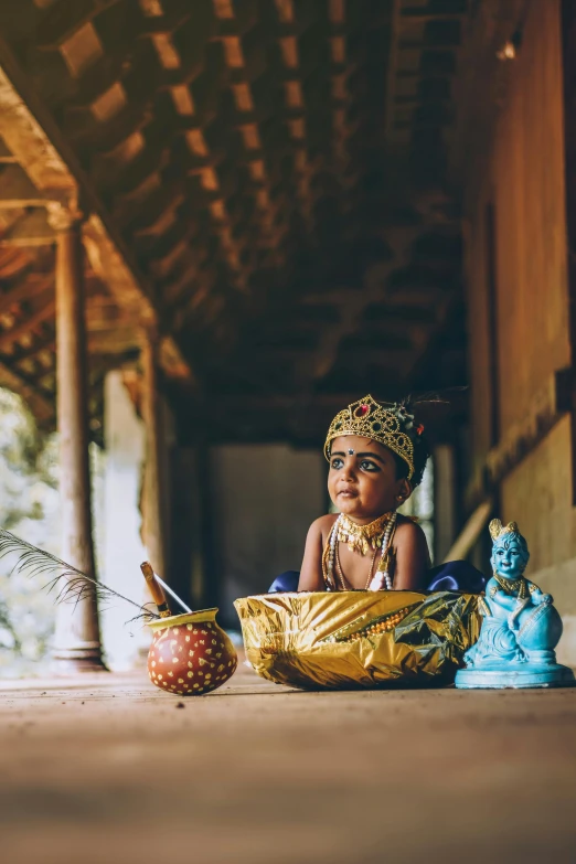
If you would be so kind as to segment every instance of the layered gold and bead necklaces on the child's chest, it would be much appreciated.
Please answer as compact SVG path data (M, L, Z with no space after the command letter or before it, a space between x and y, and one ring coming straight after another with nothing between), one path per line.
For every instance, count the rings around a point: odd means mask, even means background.
M382 574L386 590L392 589L392 578L390 576L390 565L391 565L392 555L391 555L390 547L396 527L396 519L397 519L396 512L392 512L392 513L385 513L383 516L380 516L377 520L374 520L374 522L371 522L370 525L355 525L355 523L352 522L343 513L339 515L339 518L332 525L332 530L330 531L327 544L324 546L324 552L322 554L322 575L324 578L324 585L327 586L327 590L330 591L340 590L334 573L338 575L340 585L342 586L341 590L349 590L349 588L346 588L346 585L349 585L349 583L343 574L342 565L340 564L340 556L338 554L338 543L339 542L346 543L348 537L352 537L352 541L355 541L353 546L350 543L348 543L348 546L352 552L361 551L364 547L361 542L362 540L366 541L366 545L365 545L366 552L370 548L370 546L374 550L374 554L372 556L372 564L370 566L369 578L366 582L366 589L369 588L372 582L374 562L376 559L378 548L382 548L382 557L378 562L376 574L378 573ZM361 531L359 531L358 533L354 531L351 532L348 523L350 525L354 525L355 529L369 529L370 530L369 536L362 537ZM374 531L373 527L376 524L380 529L377 533Z

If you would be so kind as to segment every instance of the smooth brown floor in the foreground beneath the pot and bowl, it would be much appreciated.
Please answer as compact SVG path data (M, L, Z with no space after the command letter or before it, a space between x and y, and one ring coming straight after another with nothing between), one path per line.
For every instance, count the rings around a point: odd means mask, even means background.
M576 690L0 690L3 864L576 862Z

